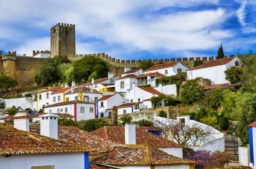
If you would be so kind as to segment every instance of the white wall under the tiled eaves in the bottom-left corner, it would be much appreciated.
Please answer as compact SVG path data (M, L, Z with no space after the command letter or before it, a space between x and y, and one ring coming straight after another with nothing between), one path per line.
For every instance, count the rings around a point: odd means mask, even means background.
M54 165L54 169L84 169L84 153L15 154L8 158L1 155L0 164L4 169L30 169L40 165Z

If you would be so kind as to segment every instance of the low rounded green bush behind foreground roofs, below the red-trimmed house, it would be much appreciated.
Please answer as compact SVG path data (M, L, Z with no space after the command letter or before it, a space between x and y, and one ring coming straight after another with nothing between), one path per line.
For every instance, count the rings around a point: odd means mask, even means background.
M104 126L112 126L112 125L104 119L91 119L91 120L87 120L81 129L88 132L92 132Z

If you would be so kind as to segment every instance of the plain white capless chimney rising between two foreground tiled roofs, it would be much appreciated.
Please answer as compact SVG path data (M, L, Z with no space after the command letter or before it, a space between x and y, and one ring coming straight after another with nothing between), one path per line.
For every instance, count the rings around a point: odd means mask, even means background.
M134 123L125 123L125 144L136 144L136 125Z

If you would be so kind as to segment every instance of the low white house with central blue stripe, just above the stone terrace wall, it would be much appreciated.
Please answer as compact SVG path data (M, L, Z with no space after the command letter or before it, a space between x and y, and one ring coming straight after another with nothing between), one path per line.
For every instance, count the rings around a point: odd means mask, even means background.
M112 107L111 107L112 108ZM106 109L108 111L111 111L111 108ZM133 103L124 103L122 105L116 106L117 108L117 114L125 114L125 113L134 113L134 112L140 112L140 109L144 108L143 102L133 102Z

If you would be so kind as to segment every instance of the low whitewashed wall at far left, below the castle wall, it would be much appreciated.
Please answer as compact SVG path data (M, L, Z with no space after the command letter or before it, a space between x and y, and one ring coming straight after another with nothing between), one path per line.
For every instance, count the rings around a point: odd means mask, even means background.
M4 99L4 101L6 102L6 107L20 106L22 109L32 108L32 110L36 108L33 106L32 97Z

